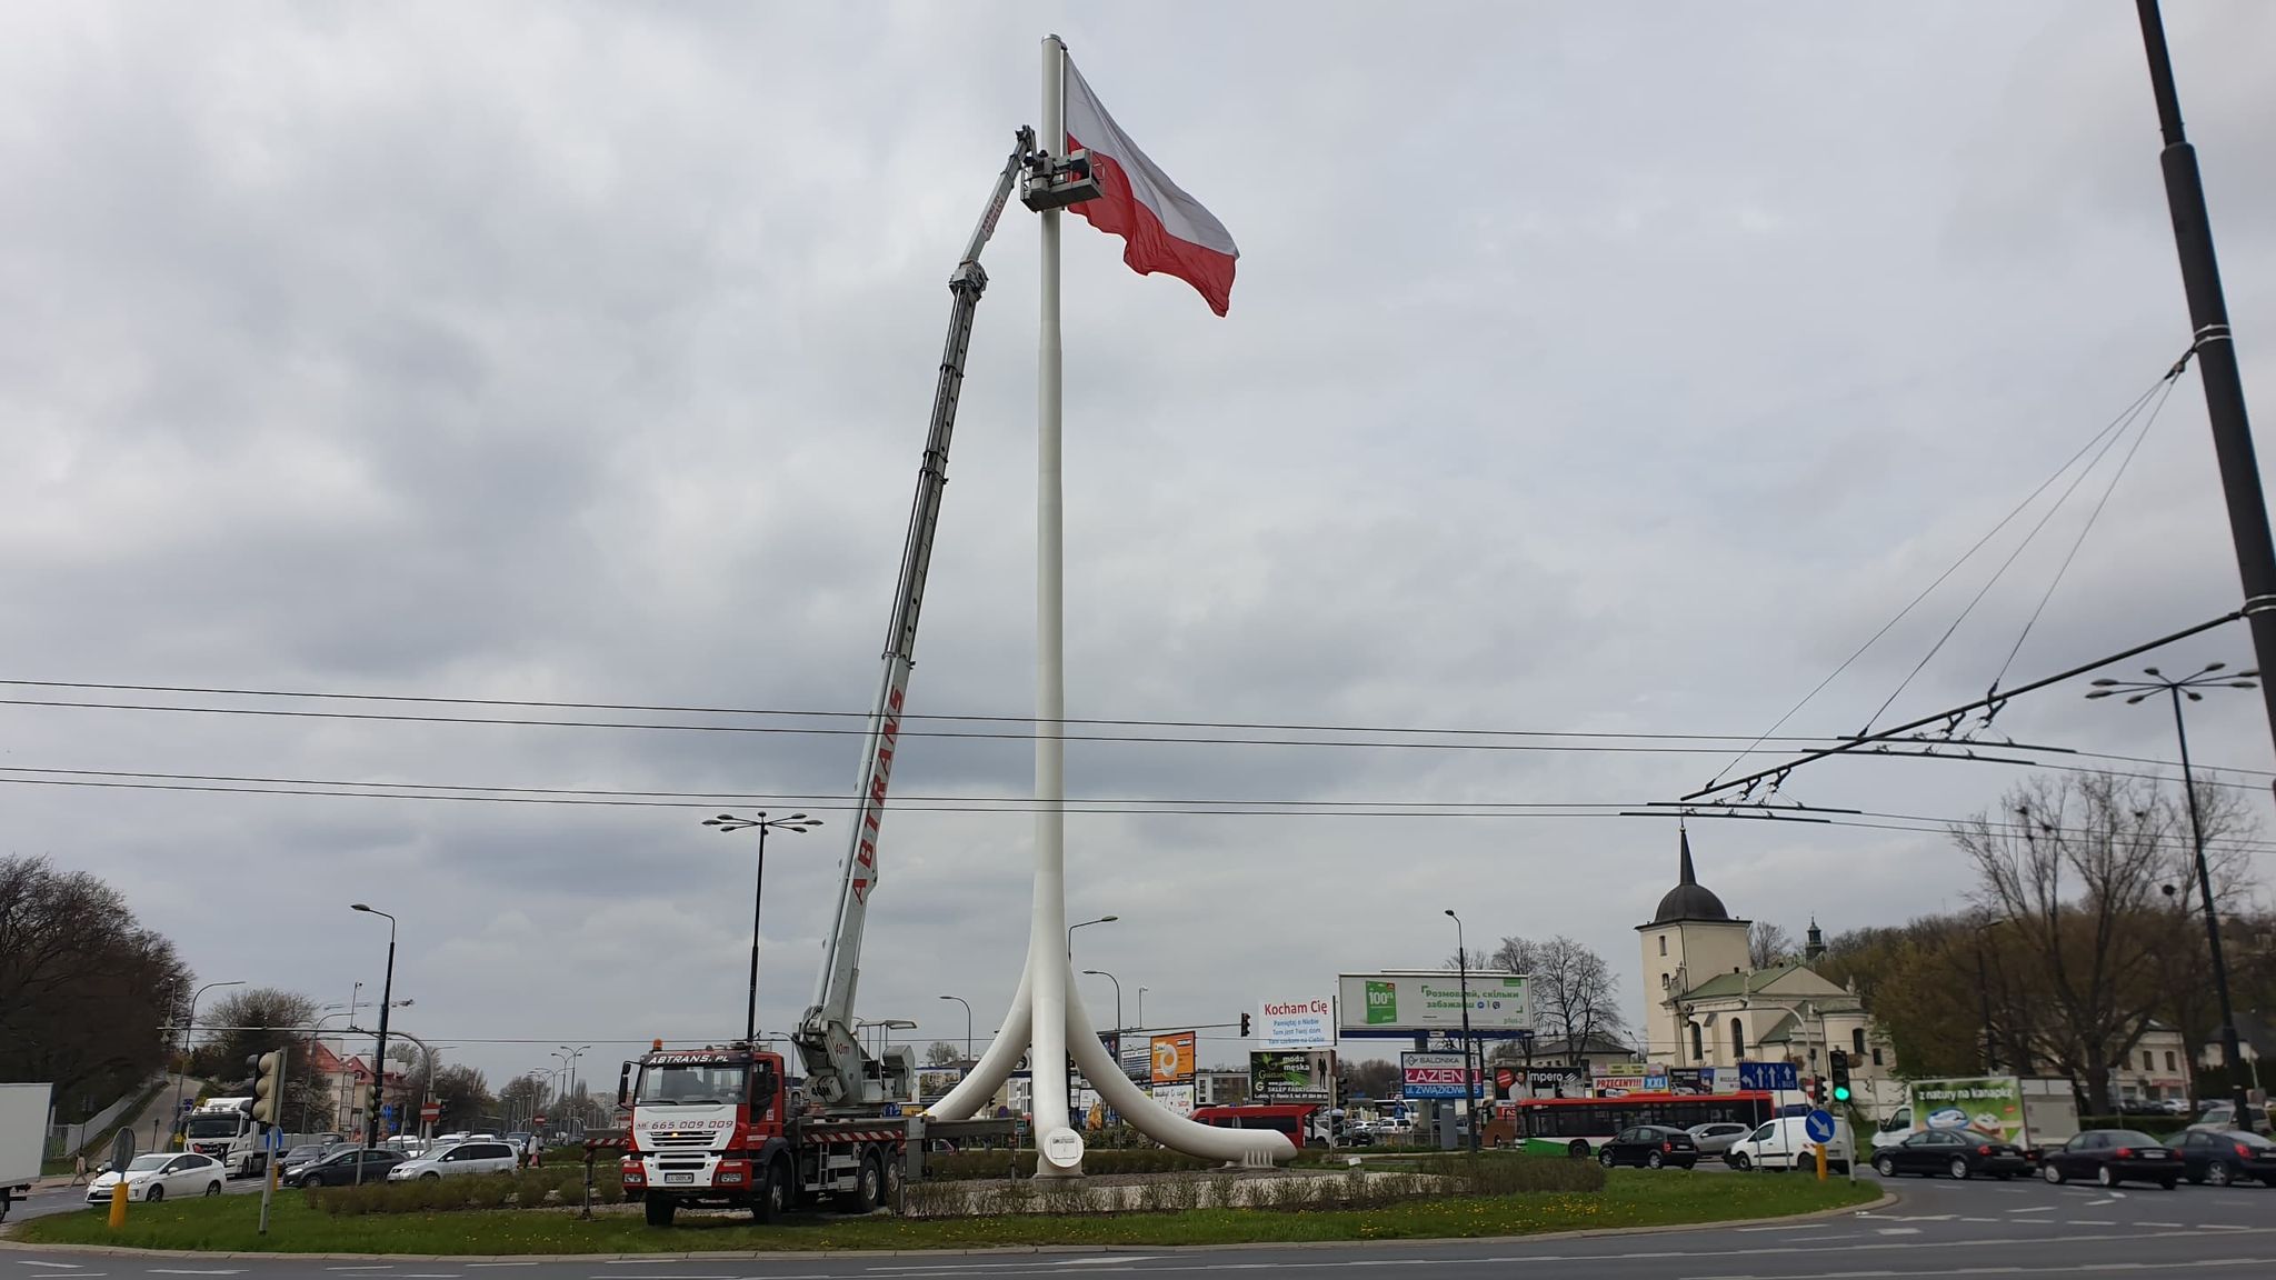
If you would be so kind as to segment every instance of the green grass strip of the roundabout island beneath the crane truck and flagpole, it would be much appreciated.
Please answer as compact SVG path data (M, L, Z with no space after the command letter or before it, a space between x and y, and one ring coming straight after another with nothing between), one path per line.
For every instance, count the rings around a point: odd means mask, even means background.
M1580 1228L1643 1228L1768 1219L1862 1205L1878 1182L1814 1178L1614 1171L1600 1193L1466 1196L1409 1200L1386 1209L1195 1209L1181 1214L904 1221L815 1219L758 1228L749 1219L681 1219L649 1228L640 1216L578 1221L574 1209L492 1209L455 1214L371 1214L332 1219L298 1193L278 1196L269 1234L255 1234L257 1196L132 1205L112 1232L98 1212L34 1219L11 1232L34 1244L121 1244L141 1248L278 1253L687 1253L806 1248L972 1248L995 1244L1250 1244L1306 1239L1448 1239L1534 1234Z

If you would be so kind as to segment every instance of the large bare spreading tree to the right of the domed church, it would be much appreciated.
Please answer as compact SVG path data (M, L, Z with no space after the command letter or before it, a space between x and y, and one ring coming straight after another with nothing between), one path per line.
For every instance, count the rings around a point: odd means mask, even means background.
M2208 827L2208 845L2212 836ZM2112 1064L2171 1002L2162 952L2187 945L2196 877L2183 806L2153 781L2035 777L2003 797L2001 818L1978 813L1953 840L1976 863L1976 900L1994 918L1985 934L2014 970L2005 977L2035 1002L2019 1048L2051 1059L2108 1114ZM2235 879L2237 856L2208 850L2217 879Z

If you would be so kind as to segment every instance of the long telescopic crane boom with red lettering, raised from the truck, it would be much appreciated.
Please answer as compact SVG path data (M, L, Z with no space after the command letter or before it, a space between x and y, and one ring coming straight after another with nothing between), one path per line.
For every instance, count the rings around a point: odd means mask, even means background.
M885 818L885 788L901 736L901 699L908 692L908 670L915 665L917 613L924 606L924 579L933 563L933 528L940 524L940 492L949 483L949 437L956 430L956 401L965 385L965 351L972 344L972 314L988 289L981 251L995 235L997 219L1011 200L1036 153L1036 132L1022 128L1004 173L997 175L988 207L949 276L949 339L940 353L940 380L933 385L933 421L924 437L924 462L917 467L917 499L908 512L908 540L901 544L901 581L892 597L892 620L885 629L885 672L876 704L863 733L860 774L856 779L858 820L838 865L838 911L822 938L822 973L815 977L815 1000L792 1036L806 1064L806 1091L824 1107L883 1102L883 1070L863 1052L853 1034L853 988L860 982L860 934L869 916L869 893L876 891L876 838Z

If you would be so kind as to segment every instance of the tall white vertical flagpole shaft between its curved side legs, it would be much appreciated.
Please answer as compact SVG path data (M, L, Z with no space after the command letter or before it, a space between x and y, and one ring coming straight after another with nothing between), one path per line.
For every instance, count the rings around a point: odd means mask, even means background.
M1067 148L1067 46L1042 41L1042 128L1038 146ZM1083 1168L1083 1137L1067 1123L1067 667L1065 667L1065 510L1058 424L1058 210L1042 210L1042 317L1036 339L1036 906L1029 934L1029 1055L1036 1109L1036 1175Z

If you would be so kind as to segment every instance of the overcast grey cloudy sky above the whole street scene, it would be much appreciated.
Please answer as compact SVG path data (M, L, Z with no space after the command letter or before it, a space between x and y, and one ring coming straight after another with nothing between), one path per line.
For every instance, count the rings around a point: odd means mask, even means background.
M2276 7L2167 20L2267 433ZM1038 116L1054 30L1243 251L1215 319L1070 221L1077 717L1757 733L2187 344L2121 0L18 2L0 679L863 711L947 273ZM913 713L1033 706L1024 210L988 271ZM1880 724L1991 683L2124 451ZM2007 683L2235 608L2217 485L2192 371ZM2014 531L1787 731L1859 729ZM2226 629L2162 658L2251 651ZM2158 708L2080 692L2019 699L1998 729L2171 758ZM2271 765L2256 695L2210 699L2192 731L2203 761ZM1067 786L1639 804L1723 763L1677 745L1072 742ZM121 886L200 979L371 1000L385 922L346 909L369 900L403 920L405 1029L492 1077L599 1043L601 1080L649 1036L740 1032L756 840L699 818L721 793L844 795L856 740L0 706L0 850ZM1789 795L1962 818L2021 777L1837 761ZM910 736L892 781L1020 797L1031 749ZM885 822L860 1014L960 1039L938 1000L956 993L986 1039L1024 947L1031 818L924 804ZM801 806L831 824L769 840L769 1027L810 998L849 827ZM1693 847L1732 911L1796 932L1969 891L1935 831L1693 822ZM1434 966L1448 906L1473 945L1589 941L1641 1014L1632 927L1675 877L1675 829L1650 818L1115 813L1070 818L1067 850L1070 918L1122 918L1079 934L1079 966L1120 977L1124 1020L1147 986L1156 1027ZM1113 988L1079 982L1108 1020Z

